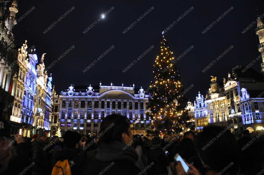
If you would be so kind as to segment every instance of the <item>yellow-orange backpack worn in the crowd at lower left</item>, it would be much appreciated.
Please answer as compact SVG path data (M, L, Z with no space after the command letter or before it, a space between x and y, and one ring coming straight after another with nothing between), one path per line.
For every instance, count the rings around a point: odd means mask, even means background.
M72 165L72 164L71 164ZM51 172L51 175L58 175L58 174L63 174L63 175L72 175L72 172L70 171L70 164L68 159L58 161Z

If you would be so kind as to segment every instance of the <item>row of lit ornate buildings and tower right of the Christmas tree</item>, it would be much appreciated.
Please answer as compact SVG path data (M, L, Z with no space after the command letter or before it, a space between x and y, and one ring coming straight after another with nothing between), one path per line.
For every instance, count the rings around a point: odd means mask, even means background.
M264 25L259 16L257 17L256 34L260 41L258 51L261 52L257 60L262 58L261 71L264 73ZM264 130L263 75L253 70L251 66L237 65L232 69L231 74L228 72L223 82L216 82L216 77L211 77L211 88L204 101L207 105L205 113L207 112L208 115L200 115L204 110L198 105L202 103L200 93L193 106L196 130L199 132L207 124L228 127L237 136L246 129L249 132ZM190 103L188 109L192 108L191 102L188 103ZM188 113L192 115L193 112L189 110ZM204 123L206 118L207 123ZM203 119L202 126L201 119Z

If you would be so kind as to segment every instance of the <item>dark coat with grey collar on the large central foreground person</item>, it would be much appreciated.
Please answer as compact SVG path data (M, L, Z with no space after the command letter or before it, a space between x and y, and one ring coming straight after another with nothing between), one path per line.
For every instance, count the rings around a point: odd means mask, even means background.
M122 142L100 143L97 148L96 160L87 165L85 172L89 175L136 175L141 171L135 165L137 160L136 151L130 146L126 147Z

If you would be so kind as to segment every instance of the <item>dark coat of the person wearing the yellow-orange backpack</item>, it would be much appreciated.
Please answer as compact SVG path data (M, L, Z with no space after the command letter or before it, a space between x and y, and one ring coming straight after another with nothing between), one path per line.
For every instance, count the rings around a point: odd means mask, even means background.
M70 167L72 175L83 174L84 168L87 164L86 157L81 153L81 150L77 148L69 149L64 147L63 150L58 151L55 154L56 162L68 159L69 163L73 161Z

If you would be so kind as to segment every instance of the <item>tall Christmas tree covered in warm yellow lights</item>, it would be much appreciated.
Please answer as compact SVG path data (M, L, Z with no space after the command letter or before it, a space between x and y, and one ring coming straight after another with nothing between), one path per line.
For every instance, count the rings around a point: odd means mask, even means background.
M176 67L177 60L169 50L167 40L162 32L161 46L155 59L154 80L151 81L152 97L149 100L152 124L163 134L182 132L189 120L183 107L187 100L184 96L181 77Z

